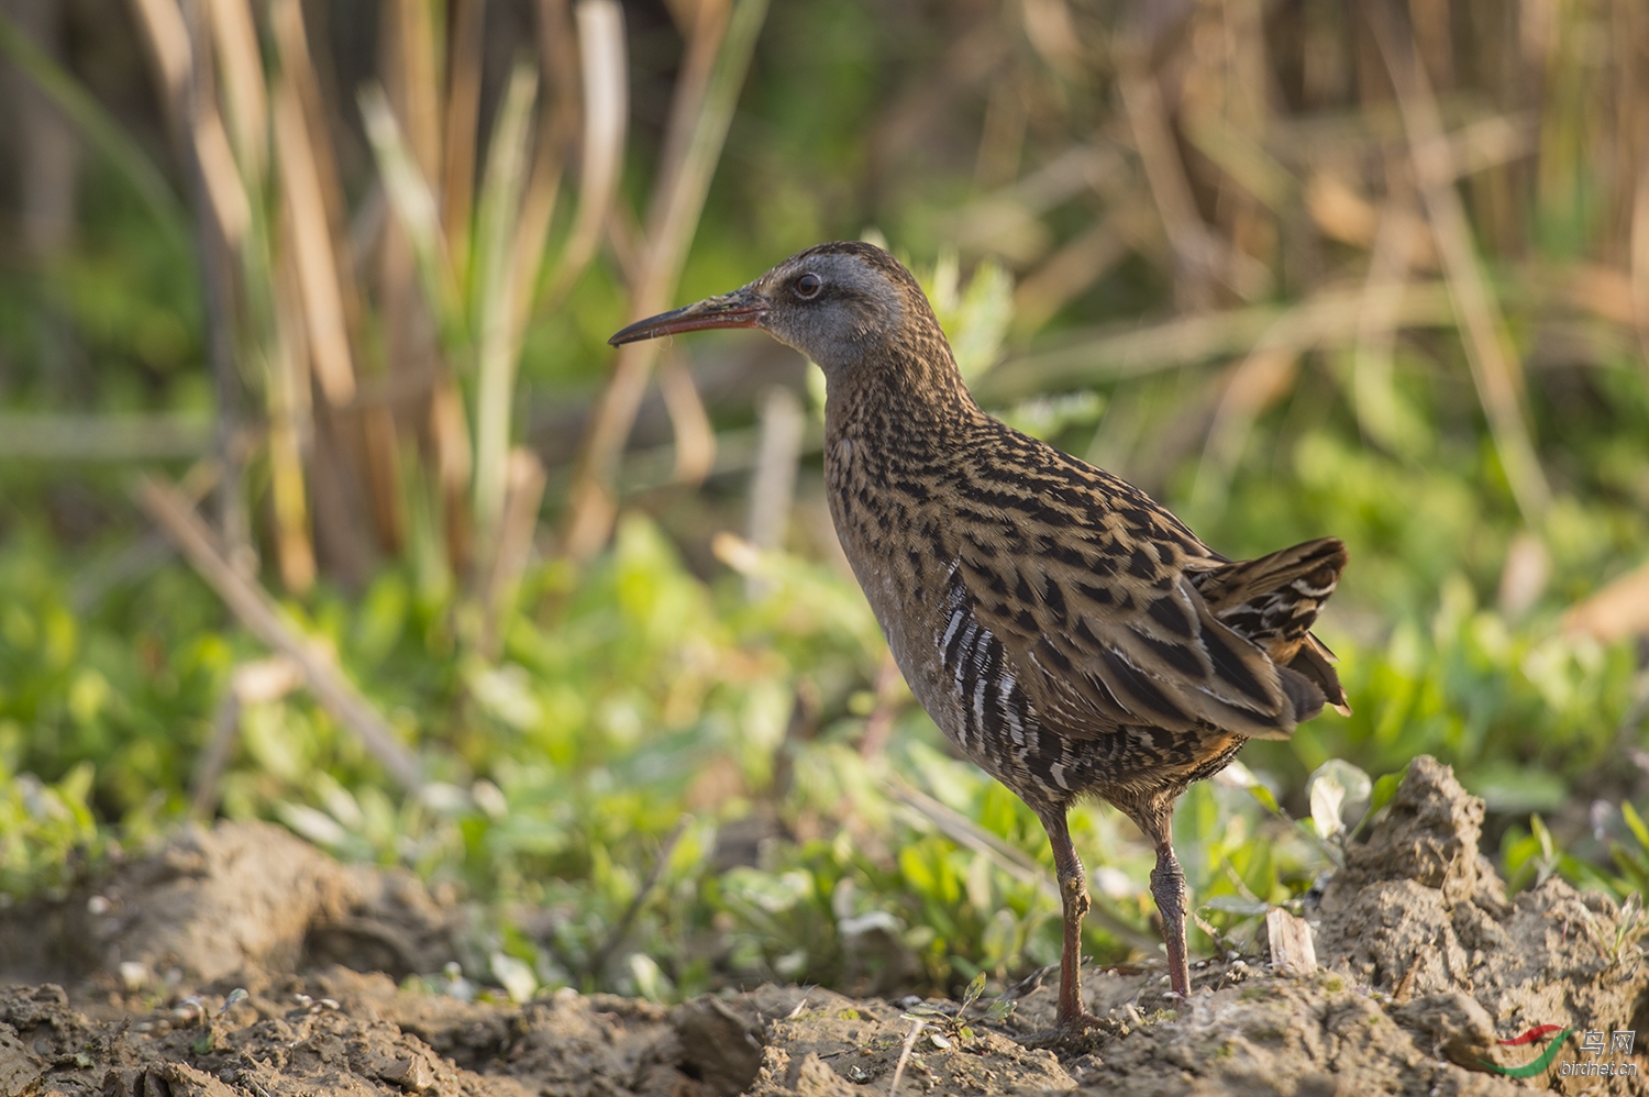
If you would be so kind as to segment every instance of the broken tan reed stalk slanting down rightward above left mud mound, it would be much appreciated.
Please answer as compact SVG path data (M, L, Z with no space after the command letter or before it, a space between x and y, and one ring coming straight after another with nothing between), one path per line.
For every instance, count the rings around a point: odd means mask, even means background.
M297 622L257 582L226 558L211 530L178 490L162 480L139 480L139 501L150 518L183 551L195 571L224 605L259 640L285 655L303 671L303 681L331 716L359 736L366 751L407 792L417 792L424 775L417 757L401 744L394 727L350 681L333 653L307 637Z

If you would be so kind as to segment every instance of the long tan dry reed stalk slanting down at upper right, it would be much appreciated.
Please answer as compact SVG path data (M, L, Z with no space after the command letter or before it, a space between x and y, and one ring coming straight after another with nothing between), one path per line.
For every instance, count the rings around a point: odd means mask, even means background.
M1443 261L1449 300L1459 315L1471 378L1512 497L1524 521L1539 526L1552 500L1552 488L1540 468L1524 409L1522 368L1506 333L1499 304L1489 292L1466 210L1454 190L1454 163L1443 137L1436 99L1415 56L1413 41L1398 35L1387 20L1374 18L1372 26L1397 89L1408 132L1408 155L1431 221L1438 257Z

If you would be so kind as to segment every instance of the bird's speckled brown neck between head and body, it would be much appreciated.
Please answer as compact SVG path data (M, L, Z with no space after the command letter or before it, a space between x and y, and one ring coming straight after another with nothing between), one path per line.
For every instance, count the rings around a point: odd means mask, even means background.
M861 358L826 373L826 384L824 427L831 439L902 449L900 440L937 442L984 416L937 322L867 346Z

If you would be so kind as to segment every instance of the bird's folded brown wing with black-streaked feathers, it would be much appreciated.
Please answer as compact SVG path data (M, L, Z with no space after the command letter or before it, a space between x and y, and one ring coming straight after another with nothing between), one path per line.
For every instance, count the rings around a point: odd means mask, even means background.
M1270 574L1253 567L1260 561L1227 564L1200 554L1194 538L1166 526L1151 536L1126 520L1037 526L963 534L950 604L1001 642L1004 666L1045 724L1072 737L1149 726L1278 739L1321 711L1326 690L1314 675L1275 663L1220 620L1225 602L1199 589L1248 591L1232 609L1257 602ZM1233 567L1248 571L1214 581ZM1255 612L1263 619L1266 607Z

